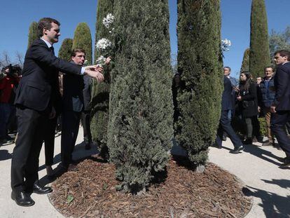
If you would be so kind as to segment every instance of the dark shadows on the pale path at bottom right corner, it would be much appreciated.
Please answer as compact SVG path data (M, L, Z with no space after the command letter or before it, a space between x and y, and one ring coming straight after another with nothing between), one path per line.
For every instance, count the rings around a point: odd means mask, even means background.
M284 180L284 179L282 179ZM275 179L272 184L284 184L284 182ZM259 205L263 207L265 217L286 218L290 216L290 196L278 196L276 193L264 191L251 186L246 186L242 189L244 195L261 198L262 203Z

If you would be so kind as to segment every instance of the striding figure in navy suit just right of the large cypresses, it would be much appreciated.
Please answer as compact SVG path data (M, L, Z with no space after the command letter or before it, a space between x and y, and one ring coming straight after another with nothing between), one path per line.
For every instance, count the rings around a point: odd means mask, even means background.
M227 76L223 76L223 88L223 95L221 97L221 118L219 120L219 129L216 135L216 145L221 149L221 139L223 137L223 131L225 131L235 147L231 153L238 154L244 147L242 146L242 141L237 134L235 134L235 131L230 125L230 119L228 118L228 111L234 109L234 103L232 95L233 86Z

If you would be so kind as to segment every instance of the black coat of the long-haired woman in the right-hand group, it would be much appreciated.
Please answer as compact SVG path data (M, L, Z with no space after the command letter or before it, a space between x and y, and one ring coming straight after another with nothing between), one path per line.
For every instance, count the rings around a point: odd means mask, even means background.
M241 86L240 86L241 87ZM242 101L239 102L239 108L244 118L258 115L258 98L256 83L249 84L249 90L240 88Z

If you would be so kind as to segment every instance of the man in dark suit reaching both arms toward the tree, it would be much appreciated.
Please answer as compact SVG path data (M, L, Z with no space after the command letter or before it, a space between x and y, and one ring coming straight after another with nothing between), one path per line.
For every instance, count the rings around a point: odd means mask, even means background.
M18 116L18 140L11 163L11 198L18 205L32 206L30 193L48 193L50 187L38 181L39 153L48 118L55 116L55 77L58 71L67 74L88 74L103 81L102 68L80 67L55 57L53 43L60 36L60 22L52 18L39 20L39 36L25 55L22 80L15 98Z

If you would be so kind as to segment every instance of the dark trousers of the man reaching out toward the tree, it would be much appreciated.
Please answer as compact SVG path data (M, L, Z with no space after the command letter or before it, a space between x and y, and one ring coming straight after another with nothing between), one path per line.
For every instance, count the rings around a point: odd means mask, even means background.
M48 113L17 108L18 139L11 162L11 188L15 192L31 191L39 179L39 154L48 123Z

